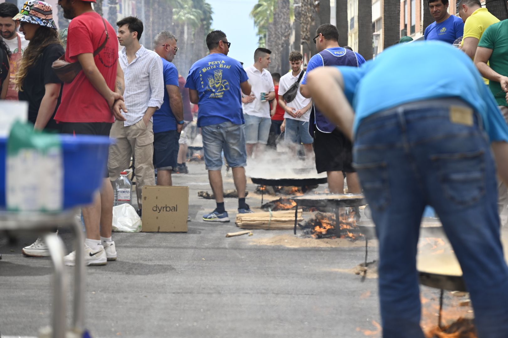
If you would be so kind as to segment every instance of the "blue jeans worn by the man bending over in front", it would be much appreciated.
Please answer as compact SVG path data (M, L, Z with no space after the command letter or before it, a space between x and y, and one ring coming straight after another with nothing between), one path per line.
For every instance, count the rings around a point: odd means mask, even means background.
M441 219L463 271L481 338L508 337L508 267L497 185L481 121L450 121L441 99L379 112L360 123L354 162L379 239L379 299L386 338L423 338L416 268L426 205Z

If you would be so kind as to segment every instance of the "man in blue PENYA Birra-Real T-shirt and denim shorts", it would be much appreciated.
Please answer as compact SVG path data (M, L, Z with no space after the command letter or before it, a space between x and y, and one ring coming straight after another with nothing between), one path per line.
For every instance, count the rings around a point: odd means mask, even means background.
M250 95L251 88L240 62L227 56L231 43L223 31L210 32L206 45L210 54L193 64L185 87L189 89L190 102L199 105L198 127L201 127L205 165L217 203L215 210L204 215L203 220L229 222L220 174L223 151L233 169L238 212L251 212L245 203L247 151L240 93Z

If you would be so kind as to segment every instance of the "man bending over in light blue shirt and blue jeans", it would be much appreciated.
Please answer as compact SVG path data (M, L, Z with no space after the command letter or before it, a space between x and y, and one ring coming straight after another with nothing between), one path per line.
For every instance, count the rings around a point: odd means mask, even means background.
M429 55L453 62L435 67ZM424 338L416 255L430 205L460 262L478 336L508 337L496 184L496 164L508 182L508 126L471 59L442 43L406 44L307 79L322 112L355 134L355 168L379 239L383 336Z

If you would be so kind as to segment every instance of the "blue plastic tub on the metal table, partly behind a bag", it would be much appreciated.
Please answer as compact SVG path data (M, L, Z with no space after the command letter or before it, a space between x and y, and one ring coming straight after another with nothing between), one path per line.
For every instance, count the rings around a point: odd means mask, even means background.
M94 193L106 177L109 145L108 136L58 135L63 153L63 208L90 204ZM0 138L0 208L6 206L7 138ZM37 175L37 168L34 168ZM45 177L40 177L45 179Z

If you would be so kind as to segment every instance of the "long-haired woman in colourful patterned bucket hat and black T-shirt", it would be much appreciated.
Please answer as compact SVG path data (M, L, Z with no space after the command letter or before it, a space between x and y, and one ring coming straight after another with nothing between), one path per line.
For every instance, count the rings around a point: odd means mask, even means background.
M28 120L35 129L59 130L53 120L60 104L62 82L51 64L65 53L48 3L26 1L14 18L29 41L16 73L20 101L28 102Z

